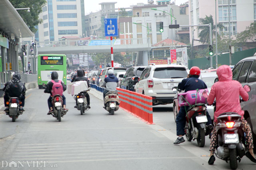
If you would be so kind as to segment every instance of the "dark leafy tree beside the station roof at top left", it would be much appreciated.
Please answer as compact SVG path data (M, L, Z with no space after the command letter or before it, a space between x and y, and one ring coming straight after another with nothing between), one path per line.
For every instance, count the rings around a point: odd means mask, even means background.
M42 7L46 5L46 0L9 0L14 8L30 8L30 12L27 10L17 10L21 18L28 25L28 28L36 33L36 25L42 23L42 19L39 19L39 14L42 12Z

